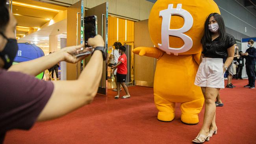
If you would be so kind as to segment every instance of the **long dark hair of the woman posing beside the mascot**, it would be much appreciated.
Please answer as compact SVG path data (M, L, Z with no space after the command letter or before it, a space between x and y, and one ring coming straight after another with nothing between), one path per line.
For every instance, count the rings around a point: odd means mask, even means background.
M210 43L211 42L211 31L208 28L208 22L210 20L211 17L214 17L215 20L218 22L219 25L219 42L226 42L226 28L225 28L225 24L224 24L224 20L221 17L221 15L219 13L211 13L205 23L204 23L204 36L202 37L201 43L204 46L206 43Z

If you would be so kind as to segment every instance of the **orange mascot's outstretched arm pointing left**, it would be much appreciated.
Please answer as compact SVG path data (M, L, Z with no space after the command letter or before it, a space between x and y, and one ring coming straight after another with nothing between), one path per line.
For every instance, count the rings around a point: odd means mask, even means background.
M161 56L164 54L163 51L159 50L156 47L138 47L132 51L134 54L140 56L147 56L147 57L154 57L156 59L160 59Z

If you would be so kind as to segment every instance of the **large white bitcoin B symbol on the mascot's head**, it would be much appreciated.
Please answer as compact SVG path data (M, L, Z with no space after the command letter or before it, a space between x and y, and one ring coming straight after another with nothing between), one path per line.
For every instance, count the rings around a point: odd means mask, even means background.
M172 15L179 15L184 18L184 25L182 28L170 29ZM190 50L193 46L193 41L184 33L192 28L193 17L188 11L182 9L182 4L178 4L176 9L173 8L173 4L169 4L168 9L160 11L159 16L163 18L161 28L162 44L158 44L159 48L167 54L173 53L174 55ZM181 48L170 48L169 35L180 37L184 41L184 45Z

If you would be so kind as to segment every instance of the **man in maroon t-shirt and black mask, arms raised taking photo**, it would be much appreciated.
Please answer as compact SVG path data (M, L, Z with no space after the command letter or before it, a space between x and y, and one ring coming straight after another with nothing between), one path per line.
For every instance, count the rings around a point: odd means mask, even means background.
M84 46L70 46L53 54L12 65L18 45L15 29L17 21L0 2L0 144L11 129L30 129L36 121L63 116L92 102L100 78L103 60L106 59L104 41L100 35L88 40L94 52L77 80L43 81L35 76L60 61L77 63L89 51ZM38 65L40 63L40 65Z

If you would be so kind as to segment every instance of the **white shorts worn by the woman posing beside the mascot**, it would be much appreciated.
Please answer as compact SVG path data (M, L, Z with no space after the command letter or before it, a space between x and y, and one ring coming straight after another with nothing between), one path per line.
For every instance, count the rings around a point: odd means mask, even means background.
M197 71L195 85L224 89L223 59L203 58Z

